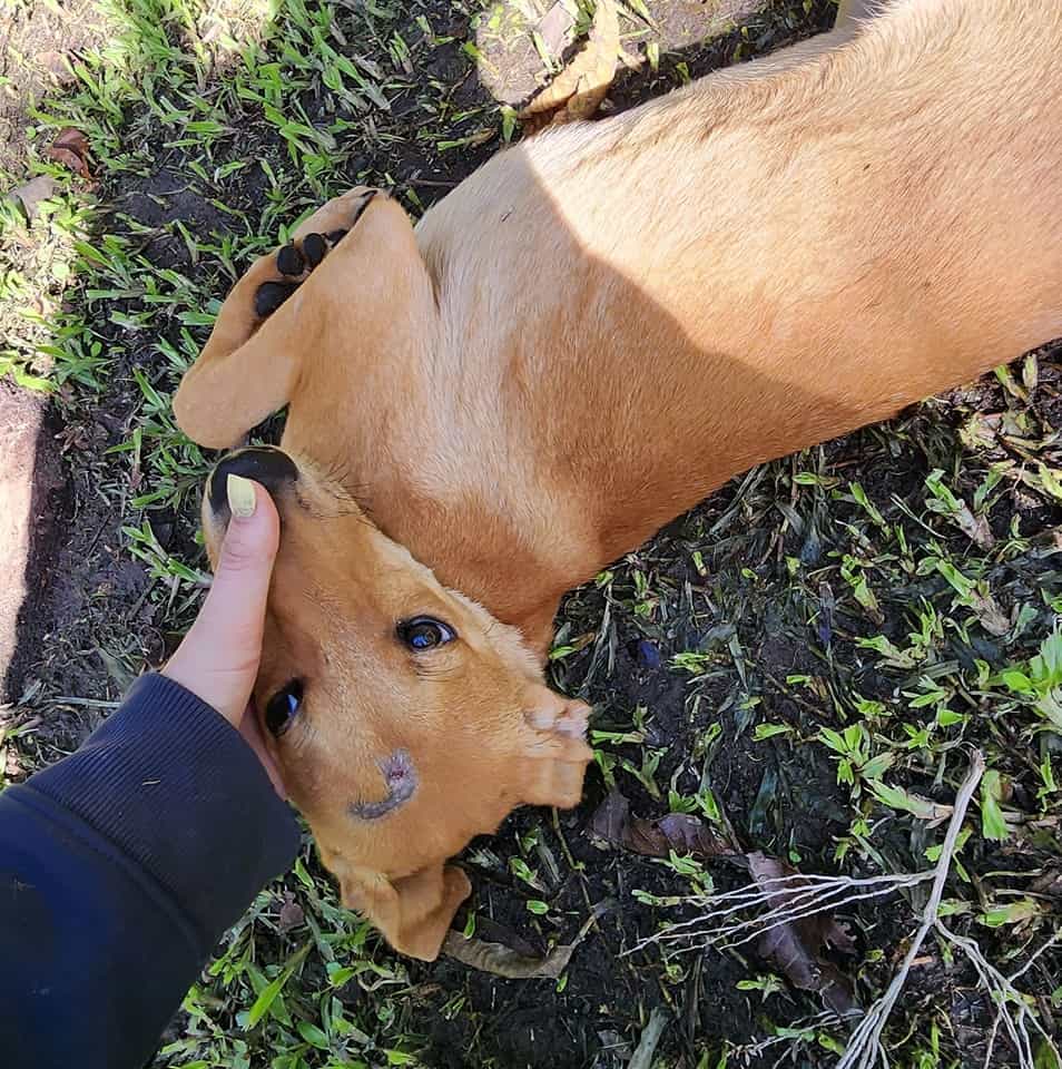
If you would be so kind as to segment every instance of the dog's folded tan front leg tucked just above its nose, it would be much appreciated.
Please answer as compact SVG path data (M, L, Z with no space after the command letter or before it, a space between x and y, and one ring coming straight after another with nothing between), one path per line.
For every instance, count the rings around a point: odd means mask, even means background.
M313 223L306 220L296 236ZM412 224L390 197L372 199L350 233L262 320L255 312L259 287L283 278L276 253L250 267L226 297L209 341L177 390L177 424L200 445L230 449L295 401L304 379L346 374L344 353L381 355L414 335L423 340L434 317L432 284Z

